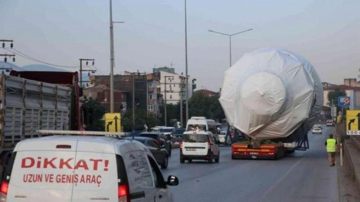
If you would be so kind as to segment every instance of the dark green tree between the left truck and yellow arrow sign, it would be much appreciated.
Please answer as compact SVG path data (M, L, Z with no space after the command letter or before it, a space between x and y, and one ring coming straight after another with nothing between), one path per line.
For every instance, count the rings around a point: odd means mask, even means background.
M105 108L101 106L100 102L93 98L85 98L83 104L85 109L84 119L87 119L87 130L88 131L104 131L105 122L104 114Z

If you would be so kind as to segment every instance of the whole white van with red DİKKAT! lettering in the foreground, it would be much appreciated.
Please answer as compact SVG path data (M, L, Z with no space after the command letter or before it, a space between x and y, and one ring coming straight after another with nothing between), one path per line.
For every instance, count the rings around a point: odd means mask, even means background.
M178 183L175 176L164 181L151 152L137 141L57 135L16 145L0 201L168 202L172 195L167 185Z

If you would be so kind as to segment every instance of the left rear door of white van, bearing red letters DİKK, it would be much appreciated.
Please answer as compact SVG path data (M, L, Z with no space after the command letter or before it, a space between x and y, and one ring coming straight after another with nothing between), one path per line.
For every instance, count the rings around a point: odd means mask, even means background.
M7 201L71 202L76 144L62 140L18 143L12 170L5 176L9 179Z

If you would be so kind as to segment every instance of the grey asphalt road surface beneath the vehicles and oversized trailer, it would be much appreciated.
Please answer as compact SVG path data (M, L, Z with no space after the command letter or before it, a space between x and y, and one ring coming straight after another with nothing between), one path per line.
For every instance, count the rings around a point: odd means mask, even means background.
M324 146L333 130L310 132L309 150L280 160L232 160L230 148L221 147L219 163L180 164L175 149L162 171L164 177L180 180L179 186L170 187L175 202L338 202L336 167L329 166Z

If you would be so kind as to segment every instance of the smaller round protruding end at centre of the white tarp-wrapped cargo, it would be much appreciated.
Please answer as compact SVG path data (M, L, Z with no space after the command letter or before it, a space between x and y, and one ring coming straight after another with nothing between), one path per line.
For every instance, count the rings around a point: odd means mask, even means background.
M283 106L286 88L279 76L271 72L258 72L250 75L242 83L240 99L244 108L253 115L272 118ZM265 120L267 119L265 118Z

